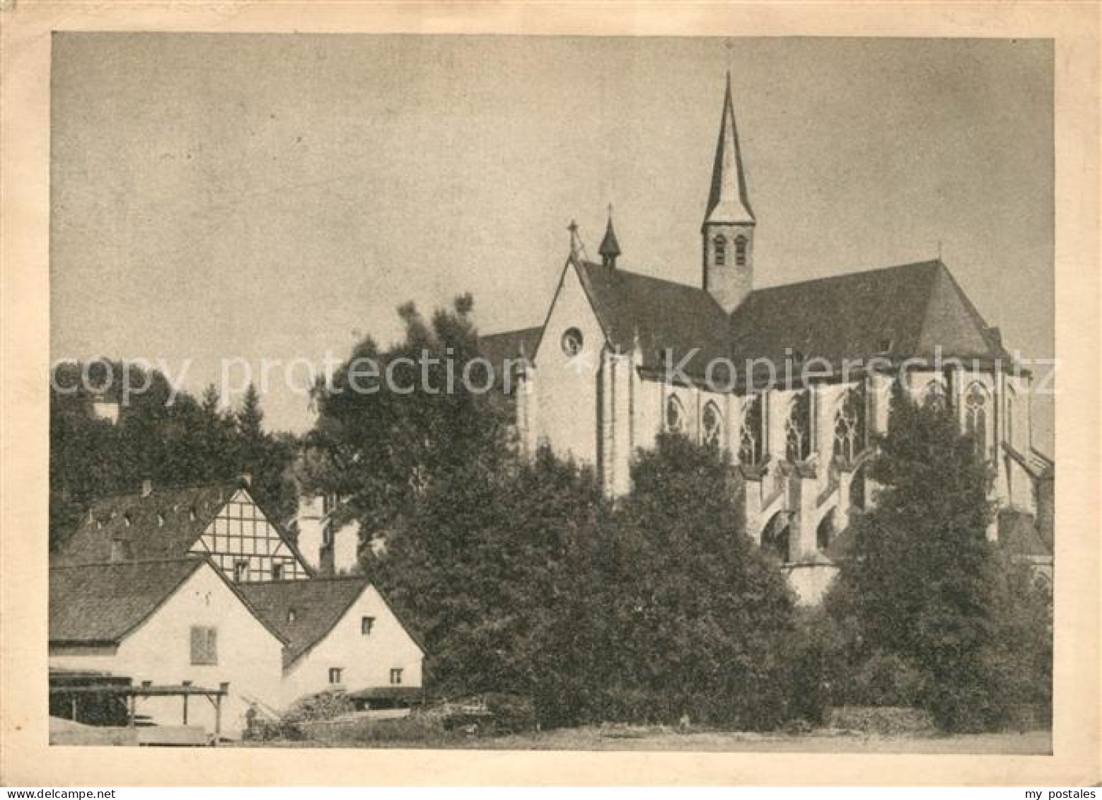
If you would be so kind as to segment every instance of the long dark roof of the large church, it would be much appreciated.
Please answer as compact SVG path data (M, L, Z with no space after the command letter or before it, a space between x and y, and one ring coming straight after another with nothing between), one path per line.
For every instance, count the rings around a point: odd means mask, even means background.
M705 375L710 361L730 359L741 375L748 359L782 364L799 353L843 359L944 357L1009 361L998 333L987 327L948 268L938 260L852 272L750 292L728 316L705 290L575 260L582 285L609 346L628 353L636 342L646 370L662 370L696 350L682 370ZM534 355L540 328L483 339L494 357ZM504 355L503 355L504 354ZM713 379L724 382L722 371Z

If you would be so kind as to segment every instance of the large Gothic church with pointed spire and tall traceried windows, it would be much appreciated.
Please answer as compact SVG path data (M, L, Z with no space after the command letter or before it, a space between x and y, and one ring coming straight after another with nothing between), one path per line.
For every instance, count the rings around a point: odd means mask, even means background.
M521 363L521 446L548 443L630 488L633 453L677 431L728 450L746 530L813 604L836 573L839 533L874 499L864 467L906 366L920 402L953 410L982 446L1003 515L1050 519L1054 464L1033 446L1030 374L940 259L755 288L750 204L727 77L694 285L624 269L609 215L599 262L571 253L542 325L483 337ZM767 220L764 220L767 224ZM1051 527L1025 554L1051 563ZM998 536L997 526L988 537Z

